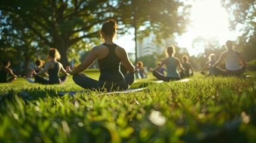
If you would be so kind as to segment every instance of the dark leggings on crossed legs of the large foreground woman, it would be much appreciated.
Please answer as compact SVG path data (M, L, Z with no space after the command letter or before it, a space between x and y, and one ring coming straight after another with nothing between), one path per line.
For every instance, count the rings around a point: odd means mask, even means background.
M134 73L127 73L124 75L125 79L118 82L98 81L86 76L84 73L73 75L74 82L85 89L98 91L122 91L128 89L135 80Z

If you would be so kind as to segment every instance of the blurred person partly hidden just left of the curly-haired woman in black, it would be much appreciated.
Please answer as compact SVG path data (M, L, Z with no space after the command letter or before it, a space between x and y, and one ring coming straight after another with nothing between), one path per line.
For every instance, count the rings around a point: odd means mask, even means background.
M44 66L44 61L42 61L42 60L40 60L40 59L38 59L38 60L36 60L36 62L35 62L35 67L29 72L29 74L25 77L26 78L26 80L28 81L28 82L30 82L30 83L38 83L38 81L37 80L32 80L31 78L30 78L30 76L32 76L33 75L33 73L34 73L34 71L35 71L35 73L38 73L39 71L41 71L41 70L44 70L42 67ZM47 76L47 79L48 79L48 73L44 73L45 74L45 76ZM36 79L38 79L38 78L36 78Z

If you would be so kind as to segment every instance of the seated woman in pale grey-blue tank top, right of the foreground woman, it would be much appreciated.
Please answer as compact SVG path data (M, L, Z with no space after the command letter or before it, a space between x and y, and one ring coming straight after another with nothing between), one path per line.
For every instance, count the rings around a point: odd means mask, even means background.
M169 80L179 80L180 73L178 72L177 67L179 67L181 71L185 71L185 70L180 63L180 60L174 57L174 54L175 54L174 46L168 46L168 48L166 48L166 53L168 57L164 58L164 60L161 61L161 64L158 67L156 67L155 69L151 69L151 71L153 71L153 76L155 76L159 80L164 80L165 82L169 82ZM159 73L158 71L164 65L166 66L166 70L167 70L166 76Z

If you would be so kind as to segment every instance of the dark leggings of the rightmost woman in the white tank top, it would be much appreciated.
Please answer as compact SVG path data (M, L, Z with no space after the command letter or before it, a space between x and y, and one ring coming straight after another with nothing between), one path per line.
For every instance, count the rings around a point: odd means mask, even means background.
M246 67L242 66L238 70L224 70L220 67L214 67L214 71L221 76L241 76L245 72Z

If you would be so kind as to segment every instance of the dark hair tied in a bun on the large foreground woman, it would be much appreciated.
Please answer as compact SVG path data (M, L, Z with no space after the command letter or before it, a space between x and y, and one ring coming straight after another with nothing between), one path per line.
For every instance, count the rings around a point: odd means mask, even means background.
M115 36L116 35L116 21L115 20L107 20L103 26L101 27L101 32L104 33L104 35L109 35L109 36Z

